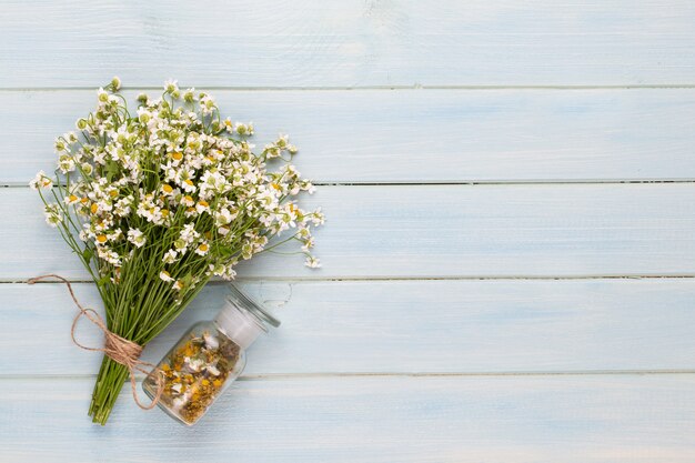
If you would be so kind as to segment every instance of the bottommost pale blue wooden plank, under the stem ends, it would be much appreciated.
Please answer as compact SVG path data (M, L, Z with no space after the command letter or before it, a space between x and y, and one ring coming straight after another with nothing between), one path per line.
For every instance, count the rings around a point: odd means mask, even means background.
M695 375L240 381L195 427L91 379L0 382L0 455L21 462L689 463ZM28 444L30 443L30 444Z

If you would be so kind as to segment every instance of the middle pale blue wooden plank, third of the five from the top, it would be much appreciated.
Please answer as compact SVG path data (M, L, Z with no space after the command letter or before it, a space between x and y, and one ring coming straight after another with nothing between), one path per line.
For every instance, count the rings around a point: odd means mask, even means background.
M264 254L253 278L451 278L695 274L695 184L322 187L324 268ZM37 192L0 191L0 279L85 279Z

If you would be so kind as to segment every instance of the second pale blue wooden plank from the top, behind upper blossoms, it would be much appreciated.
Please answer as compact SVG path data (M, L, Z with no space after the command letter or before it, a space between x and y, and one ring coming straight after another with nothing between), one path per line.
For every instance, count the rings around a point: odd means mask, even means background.
M695 179L695 89L212 93L225 114L256 122L256 143L290 133L295 164L319 182ZM11 109L0 111L0 184L54 169L53 139L94 100L0 92Z

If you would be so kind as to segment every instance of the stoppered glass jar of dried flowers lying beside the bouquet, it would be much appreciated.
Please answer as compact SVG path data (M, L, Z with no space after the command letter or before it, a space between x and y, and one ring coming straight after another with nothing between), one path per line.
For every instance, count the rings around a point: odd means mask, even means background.
M231 286L224 306L212 321L194 324L142 382L152 399L157 375L164 389L158 405L187 425L194 424L234 382L245 364L245 350L268 325L280 321Z

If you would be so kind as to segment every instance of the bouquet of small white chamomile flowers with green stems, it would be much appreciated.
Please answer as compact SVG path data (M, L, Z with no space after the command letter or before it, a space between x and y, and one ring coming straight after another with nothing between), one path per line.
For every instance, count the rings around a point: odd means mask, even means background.
M208 93L168 81L131 114L120 87L99 89L79 135L56 140L56 175L30 183L97 283L110 332L145 345L211 278L232 279L240 260L289 241L319 266L311 231L324 218L296 204L314 187L290 163L298 150L285 135L254 154L253 125L222 119ZM93 422L105 424L128 375L104 355Z

